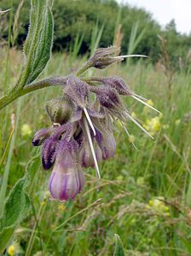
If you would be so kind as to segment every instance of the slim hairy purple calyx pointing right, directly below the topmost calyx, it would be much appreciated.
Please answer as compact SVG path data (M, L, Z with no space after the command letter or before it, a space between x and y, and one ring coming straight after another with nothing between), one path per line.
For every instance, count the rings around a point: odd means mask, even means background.
M102 84L117 90L119 95L129 96L132 94L128 85L125 84L124 80L119 77L94 78L93 80L101 82Z

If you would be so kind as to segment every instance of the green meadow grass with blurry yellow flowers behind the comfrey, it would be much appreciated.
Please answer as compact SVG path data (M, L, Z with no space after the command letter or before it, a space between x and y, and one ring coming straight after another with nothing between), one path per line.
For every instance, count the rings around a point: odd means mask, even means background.
M0 55L0 83L3 88L6 80L7 90L20 71L21 53L10 49L8 58L6 50ZM67 75L82 61L55 54L41 77ZM43 106L60 96L61 88L39 90L4 108L0 181L8 170L7 194L26 168L36 169L31 211L10 245L16 245L18 255L107 256L113 254L117 233L126 255L191 255L191 74L184 70L173 74L170 97L162 67L153 67L149 60L113 65L101 73L121 76L137 94L153 101L162 114L124 97L130 113L150 129L154 140L130 121L129 138L118 124L116 155L100 165L100 190L96 191L95 170L88 169L85 189L75 201L49 201L50 172L40 165L32 135L50 125Z

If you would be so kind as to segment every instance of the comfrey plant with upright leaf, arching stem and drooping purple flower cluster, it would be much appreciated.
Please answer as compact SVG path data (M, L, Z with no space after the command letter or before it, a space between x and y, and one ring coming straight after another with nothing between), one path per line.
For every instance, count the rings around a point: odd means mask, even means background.
M14 88L0 99L0 109L34 90L55 85L62 87L62 94L45 106L51 125L36 132L32 143L34 146L43 145L44 170L53 167L49 178L51 198L67 201L74 199L84 188L82 168L94 167L96 177L100 179L98 163L109 160L115 154L113 130L116 120L121 122L127 133L124 124L130 119L152 137L130 116L121 100L121 96L129 96L148 105L144 98L137 96L117 76L85 77L84 73L91 67L103 69L127 57L146 56L119 56L119 48L115 46L96 49L95 54L77 72L67 77L51 77L34 83L49 61L52 38L50 1L32 0L30 28L24 44L25 64Z

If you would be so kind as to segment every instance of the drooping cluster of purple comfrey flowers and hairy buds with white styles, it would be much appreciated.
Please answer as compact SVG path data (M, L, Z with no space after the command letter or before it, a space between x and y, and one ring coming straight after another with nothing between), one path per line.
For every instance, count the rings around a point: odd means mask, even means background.
M123 79L81 76L90 67L104 68L122 61L124 56L116 56L118 51L116 47L97 49L81 71L68 77L63 84L63 95L45 106L52 125L38 131L32 143L43 145L43 168L49 170L53 166L49 178L52 199L67 201L82 191L82 168L95 167L96 176L101 177L98 163L115 154L116 119L123 126L131 119L142 128L130 116L120 96L132 96L139 102L143 102L142 97L136 96ZM142 130L148 134L144 128Z

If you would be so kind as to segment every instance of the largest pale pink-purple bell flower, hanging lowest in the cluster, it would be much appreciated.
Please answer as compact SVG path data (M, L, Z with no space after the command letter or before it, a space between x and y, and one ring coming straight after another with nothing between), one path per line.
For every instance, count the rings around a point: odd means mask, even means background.
M49 178L50 194L54 200L67 201L74 199L83 187L82 171L78 169L76 159L70 153L67 142L61 142L55 167Z

